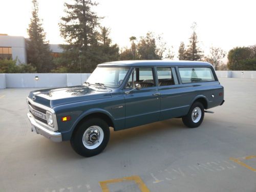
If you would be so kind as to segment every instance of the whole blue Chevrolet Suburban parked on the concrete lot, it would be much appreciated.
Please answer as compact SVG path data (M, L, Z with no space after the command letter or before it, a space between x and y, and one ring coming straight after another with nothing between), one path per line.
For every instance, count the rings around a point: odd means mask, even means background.
M212 65L200 61L115 61L97 66L82 86L30 92L32 131L70 140L84 157L102 152L115 131L170 118L198 127L224 89ZM157 127L156 127L157 129Z

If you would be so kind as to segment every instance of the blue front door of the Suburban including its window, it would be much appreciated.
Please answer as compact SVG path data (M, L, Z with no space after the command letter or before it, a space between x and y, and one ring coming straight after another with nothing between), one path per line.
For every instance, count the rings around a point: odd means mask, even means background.
M132 90L136 84L140 90L133 90L125 97L125 127L134 127L159 120L160 96L156 86L154 68L136 67L124 91Z

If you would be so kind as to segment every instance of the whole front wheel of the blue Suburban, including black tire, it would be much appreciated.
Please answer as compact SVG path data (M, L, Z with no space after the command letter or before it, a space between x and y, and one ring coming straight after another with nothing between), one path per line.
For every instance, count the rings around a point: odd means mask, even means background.
M70 143L76 153L91 157L104 150L109 138L109 125L102 119L92 118L78 125Z

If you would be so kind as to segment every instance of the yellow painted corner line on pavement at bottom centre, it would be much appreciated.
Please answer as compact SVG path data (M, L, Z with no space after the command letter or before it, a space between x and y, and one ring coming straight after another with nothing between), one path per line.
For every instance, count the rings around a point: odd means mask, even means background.
M140 188L141 192L150 192L150 190L146 187L145 183L139 176L131 176L131 177L123 177L117 179L111 179L106 181L100 181L99 185L101 187L102 192L110 192L108 184L110 183L120 183L125 181L135 181L135 183Z

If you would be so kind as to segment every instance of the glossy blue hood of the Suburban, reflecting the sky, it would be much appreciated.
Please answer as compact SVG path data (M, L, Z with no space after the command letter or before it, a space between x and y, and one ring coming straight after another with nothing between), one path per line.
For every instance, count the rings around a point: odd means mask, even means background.
M29 94L30 99L50 108L66 103L109 97L111 97L111 93L108 89L97 89L95 87L85 86L37 90Z

